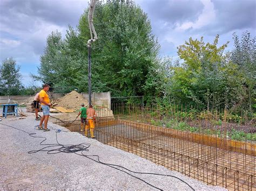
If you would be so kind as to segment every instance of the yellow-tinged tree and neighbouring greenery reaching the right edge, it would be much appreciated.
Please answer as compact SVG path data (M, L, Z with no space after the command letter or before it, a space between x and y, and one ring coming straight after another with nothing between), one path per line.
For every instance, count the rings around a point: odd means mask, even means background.
M224 53L227 43L213 43L190 38L178 47L181 63L170 67L169 88L165 95L173 103L192 105L198 110L231 112L255 109L256 49L255 38L234 34L235 48ZM170 101L171 104L171 101ZM163 105L163 103L162 103Z

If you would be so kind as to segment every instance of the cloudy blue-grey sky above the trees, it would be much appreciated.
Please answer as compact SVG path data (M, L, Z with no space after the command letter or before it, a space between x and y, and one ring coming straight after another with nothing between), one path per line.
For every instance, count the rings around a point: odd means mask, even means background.
M135 0L151 20L161 56L177 58L177 46L188 38L204 37L220 44L249 31L256 36L255 0ZM0 0L0 60L14 58L21 66L23 84L32 82L39 57L51 31L63 36L68 25L76 27L89 0ZM97 29L96 29L97 30Z

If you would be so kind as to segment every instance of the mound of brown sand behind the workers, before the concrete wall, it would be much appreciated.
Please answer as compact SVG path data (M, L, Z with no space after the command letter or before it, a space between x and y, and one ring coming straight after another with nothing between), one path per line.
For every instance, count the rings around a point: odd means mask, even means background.
M81 108L81 103L84 103L85 107L88 107L88 101L77 91L71 91L71 93L59 98L55 101L56 107L63 107L65 109L78 110Z

